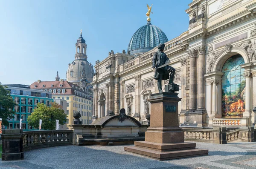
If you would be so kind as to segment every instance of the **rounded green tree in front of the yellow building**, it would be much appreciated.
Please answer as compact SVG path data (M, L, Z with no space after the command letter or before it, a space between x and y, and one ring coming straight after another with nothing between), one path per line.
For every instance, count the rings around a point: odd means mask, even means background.
M42 119L41 129L55 130L56 120L59 120L59 124L63 125L66 117L67 115L58 103L53 102L49 107L43 103L38 103L37 108L28 117L28 122L30 126L38 129L39 120Z

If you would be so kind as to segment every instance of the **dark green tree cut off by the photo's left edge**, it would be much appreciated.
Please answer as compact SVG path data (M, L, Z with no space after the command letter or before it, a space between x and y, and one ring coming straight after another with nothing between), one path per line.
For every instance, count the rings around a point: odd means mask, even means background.
M10 91L0 85L0 118L2 118L3 125L8 125L8 120L14 118L13 108L16 105L10 95Z

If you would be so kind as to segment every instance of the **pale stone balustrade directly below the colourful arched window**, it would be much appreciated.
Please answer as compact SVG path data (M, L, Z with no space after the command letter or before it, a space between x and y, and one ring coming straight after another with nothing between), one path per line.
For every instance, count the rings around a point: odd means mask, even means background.
M209 119L209 126L240 127L240 126L248 126L248 122L249 122L248 118L214 118L214 119Z

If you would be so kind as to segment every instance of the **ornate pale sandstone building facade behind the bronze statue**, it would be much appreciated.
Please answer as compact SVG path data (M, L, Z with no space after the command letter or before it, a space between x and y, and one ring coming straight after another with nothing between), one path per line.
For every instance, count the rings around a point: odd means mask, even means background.
M171 61L169 65L176 69L174 81L180 85L180 123L254 126L256 1L193 0L186 13L188 30L165 42L164 50ZM145 40L140 43L145 44ZM138 53L111 51L96 62L91 83L94 119L105 116L108 110L118 114L119 109L125 108L128 115L142 123L146 121L151 112L147 99L158 92L152 69L155 46L146 51L138 45ZM168 80L162 84L167 83Z

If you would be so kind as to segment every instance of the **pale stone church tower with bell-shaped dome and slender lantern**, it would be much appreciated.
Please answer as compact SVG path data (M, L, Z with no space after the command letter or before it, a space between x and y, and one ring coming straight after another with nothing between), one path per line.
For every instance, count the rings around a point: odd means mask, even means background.
M83 84L90 83L93 81L93 65L87 61L87 45L84 38L82 37L82 30L80 37L76 40L76 54L75 60L68 64L66 72L67 81L81 86L81 80ZM86 77L86 83L85 83ZM83 89L84 85L81 86Z

